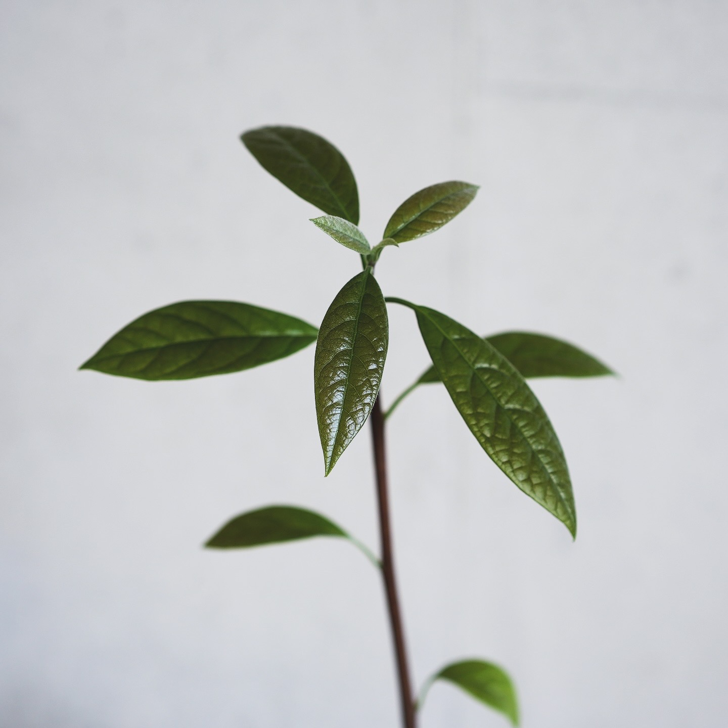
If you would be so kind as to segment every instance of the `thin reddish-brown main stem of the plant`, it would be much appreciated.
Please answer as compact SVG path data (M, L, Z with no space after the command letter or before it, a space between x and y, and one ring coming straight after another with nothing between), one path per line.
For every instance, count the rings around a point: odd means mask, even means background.
M389 526L389 498L387 496L387 456L384 448L384 414L379 396L371 411L371 434L374 446L374 467L376 471L376 495L379 505L379 530L381 533L381 574L384 577L384 591L387 593L389 623L392 626L392 641L397 658L397 676L400 685L402 719L404 728L415 728L414 701L410 685L405 634L397 598L395 562L392 556L392 529Z

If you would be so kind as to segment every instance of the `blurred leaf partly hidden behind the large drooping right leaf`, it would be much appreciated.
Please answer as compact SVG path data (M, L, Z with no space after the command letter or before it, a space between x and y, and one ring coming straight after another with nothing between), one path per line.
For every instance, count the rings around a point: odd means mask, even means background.
M526 379L542 376L606 376L614 372L568 341L542 333L507 331L484 337ZM417 380L419 384L442 381L435 367Z

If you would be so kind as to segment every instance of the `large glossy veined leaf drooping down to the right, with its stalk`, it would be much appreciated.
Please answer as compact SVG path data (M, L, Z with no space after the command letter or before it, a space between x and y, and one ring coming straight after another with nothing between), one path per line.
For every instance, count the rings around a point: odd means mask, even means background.
M577 514L561 444L526 380L494 346L445 314L410 306L450 397L483 450L518 488L576 536Z

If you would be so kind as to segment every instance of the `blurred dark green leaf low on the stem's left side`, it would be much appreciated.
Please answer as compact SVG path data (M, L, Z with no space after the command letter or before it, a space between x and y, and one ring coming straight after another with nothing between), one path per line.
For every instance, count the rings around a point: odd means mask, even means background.
M346 531L323 515L290 505L272 505L242 513L226 523L207 548L250 548L310 539L314 536L348 538Z

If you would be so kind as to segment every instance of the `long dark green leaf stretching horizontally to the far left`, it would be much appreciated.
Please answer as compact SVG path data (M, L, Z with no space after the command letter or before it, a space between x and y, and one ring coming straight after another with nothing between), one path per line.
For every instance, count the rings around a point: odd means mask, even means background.
M81 368L135 379L192 379L287 357L316 336L314 326L277 311L183 301L132 321Z

